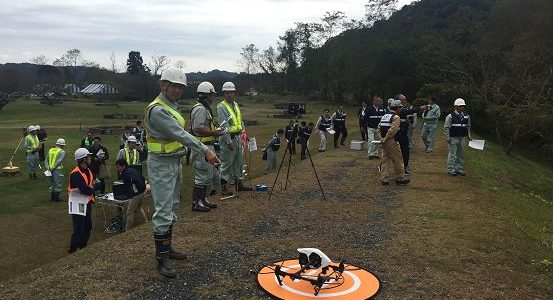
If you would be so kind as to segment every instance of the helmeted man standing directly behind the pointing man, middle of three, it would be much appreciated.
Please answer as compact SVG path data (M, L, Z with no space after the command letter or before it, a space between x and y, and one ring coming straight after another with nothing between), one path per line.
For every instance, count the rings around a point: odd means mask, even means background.
M218 137L223 131L216 123L210 105L215 95L214 86L207 82L201 82L196 89L197 102L190 111L192 134L196 136L211 151L219 147ZM194 165L194 186L192 188L192 210L208 212L211 208L217 208L216 204L208 201L213 186L213 178L218 171L209 164L204 154L192 151L191 158Z

